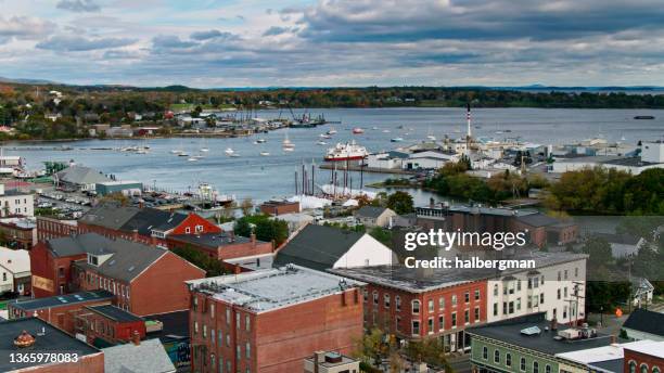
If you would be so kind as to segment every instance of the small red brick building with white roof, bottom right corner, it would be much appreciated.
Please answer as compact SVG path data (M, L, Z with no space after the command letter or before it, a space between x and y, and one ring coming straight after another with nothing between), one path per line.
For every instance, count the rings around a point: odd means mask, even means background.
M623 372L662 373L664 372L664 342L639 340L623 347Z

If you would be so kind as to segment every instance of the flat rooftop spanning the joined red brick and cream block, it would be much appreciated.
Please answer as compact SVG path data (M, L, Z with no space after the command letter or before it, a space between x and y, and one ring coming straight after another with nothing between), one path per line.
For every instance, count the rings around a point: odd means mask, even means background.
M503 259L535 260L534 269L432 269L426 272L405 266L374 266L358 268L336 268L329 271L358 281L403 290L410 293L423 293L436 288L449 287L473 281L491 280L539 268L586 259L585 254L519 252ZM452 259L454 260L454 259Z

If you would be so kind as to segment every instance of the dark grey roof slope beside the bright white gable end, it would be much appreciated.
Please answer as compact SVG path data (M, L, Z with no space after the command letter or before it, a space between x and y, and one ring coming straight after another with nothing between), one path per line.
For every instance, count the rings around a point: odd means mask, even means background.
M332 268L365 233L308 224L274 257L273 267L294 263L316 270Z

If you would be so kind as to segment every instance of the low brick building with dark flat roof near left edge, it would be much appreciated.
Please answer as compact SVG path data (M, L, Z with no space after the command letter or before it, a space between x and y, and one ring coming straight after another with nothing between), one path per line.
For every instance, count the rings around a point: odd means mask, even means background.
M37 317L72 335L76 333L76 318L87 306L111 305L113 294L106 291L79 292L29 300L14 300L7 305L10 320Z

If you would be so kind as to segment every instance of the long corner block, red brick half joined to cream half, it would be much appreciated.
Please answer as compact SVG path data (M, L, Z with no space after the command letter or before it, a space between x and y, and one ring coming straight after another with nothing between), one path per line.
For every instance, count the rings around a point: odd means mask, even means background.
M561 323L583 319L586 255L523 252L505 259L532 259L537 270L378 266L330 271L367 283L367 327L378 325L399 339L438 337L447 352L465 350L464 329L487 322L534 312Z

